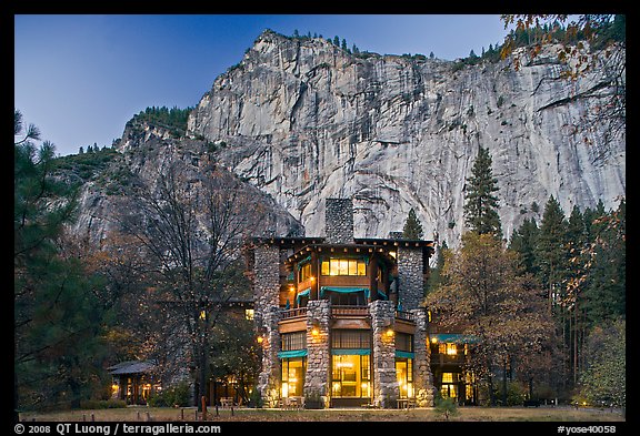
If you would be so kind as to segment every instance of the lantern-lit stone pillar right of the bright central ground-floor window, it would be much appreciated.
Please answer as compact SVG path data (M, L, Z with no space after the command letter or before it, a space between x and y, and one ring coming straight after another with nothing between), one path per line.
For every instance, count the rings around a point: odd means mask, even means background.
M377 300L369 304L373 336L373 402L396 407L399 397L396 378L396 334L389 334L396 320L393 302Z

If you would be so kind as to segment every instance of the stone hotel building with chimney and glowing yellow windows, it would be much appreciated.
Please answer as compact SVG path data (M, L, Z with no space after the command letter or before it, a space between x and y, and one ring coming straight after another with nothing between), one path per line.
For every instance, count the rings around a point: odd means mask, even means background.
M252 241L258 388L269 405L431 406L431 241L356 239L351 200L328 199L324 237Z

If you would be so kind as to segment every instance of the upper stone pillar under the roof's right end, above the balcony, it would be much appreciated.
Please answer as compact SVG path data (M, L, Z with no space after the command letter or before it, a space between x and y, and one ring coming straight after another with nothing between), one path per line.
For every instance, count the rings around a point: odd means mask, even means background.
M422 249L398 247L398 298L403 311L420 307L424 298Z

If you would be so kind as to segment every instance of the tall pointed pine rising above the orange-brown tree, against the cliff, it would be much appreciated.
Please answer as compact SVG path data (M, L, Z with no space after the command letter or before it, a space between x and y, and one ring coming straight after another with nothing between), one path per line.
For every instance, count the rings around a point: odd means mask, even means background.
M489 149L480 146L471 169L471 176L467 179L464 221L477 233L492 234L501 239L498 197L493 195L497 191L498 180L493 178Z

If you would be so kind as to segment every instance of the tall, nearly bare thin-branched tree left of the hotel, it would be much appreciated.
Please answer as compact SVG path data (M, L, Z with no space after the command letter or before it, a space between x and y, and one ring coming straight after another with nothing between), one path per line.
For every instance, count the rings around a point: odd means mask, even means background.
M122 205L119 220L147 258L163 338L157 346L166 349L164 362L190 368L197 399L207 392L212 332L224 304L249 288L237 271L261 206L213 162L196 172L168 156L158 174L133 175L131 185L137 209Z

